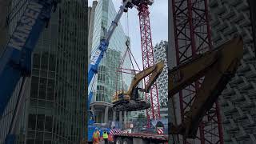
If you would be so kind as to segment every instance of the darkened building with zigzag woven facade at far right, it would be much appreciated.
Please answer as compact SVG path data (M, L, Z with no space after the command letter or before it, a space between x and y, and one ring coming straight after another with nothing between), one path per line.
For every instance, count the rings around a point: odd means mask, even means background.
M241 34L244 42L241 66L219 97L224 142L227 144L256 143L256 61L252 33L252 25L256 24L250 20L247 2L210 0L209 3L214 46L226 42L234 34Z

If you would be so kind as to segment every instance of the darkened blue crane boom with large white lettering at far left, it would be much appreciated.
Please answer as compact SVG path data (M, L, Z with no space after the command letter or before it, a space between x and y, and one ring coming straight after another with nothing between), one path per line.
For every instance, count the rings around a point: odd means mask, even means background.
M31 73L31 54L46 23L55 0L30 0L0 58L0 117L20 78Z

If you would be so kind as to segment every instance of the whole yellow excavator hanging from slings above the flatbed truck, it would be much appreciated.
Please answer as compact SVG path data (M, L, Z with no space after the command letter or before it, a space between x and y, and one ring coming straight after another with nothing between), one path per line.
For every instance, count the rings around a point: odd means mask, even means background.
M138 74L135 74L129 89L126 92L120 90L113 95L113 107L116 108L117 111L137 111L150 108L150 102L146 102L143 98L139 98L138 92L141 91L149 93L151 86L162 73L163 67L164 62L161 61L154 66L150 66L146 68L146 70L142 70ZM145 88L142 89L138 87L138 83L149 75L150 78Z

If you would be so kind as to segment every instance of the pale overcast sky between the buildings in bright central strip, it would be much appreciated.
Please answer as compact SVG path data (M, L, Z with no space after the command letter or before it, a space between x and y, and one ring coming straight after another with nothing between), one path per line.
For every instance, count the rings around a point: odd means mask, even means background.
M88 1L88 6L92 5L94 0ZM122 5L122 0L112 0L114 7L118 12ZM121 25L126 33L126 13L122 15ZM130 50L142 70L142 48L140 38L140 28L138 19L138 10L133 8L128 11ZM150 26L152 34L152 43L155 46L161 40L168 40L168 0L157 0L150 6Z

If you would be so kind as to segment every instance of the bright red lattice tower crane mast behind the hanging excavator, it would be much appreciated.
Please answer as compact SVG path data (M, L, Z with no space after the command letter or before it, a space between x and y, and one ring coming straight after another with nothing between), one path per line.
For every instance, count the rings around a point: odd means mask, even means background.
M150 11L149 6L153 4L153 0L140 0L138 6L138 17L140 24L141 43L142 43L142 65L143 70L154 65L154 53L150 29ZM149 77L144 79L145 85L148 83ZM158 86L157 83L151 87L150 93L146 94L146 101L151 103L151 107L146 110L148 126L150 119L160 119L160 105L158 102Z

